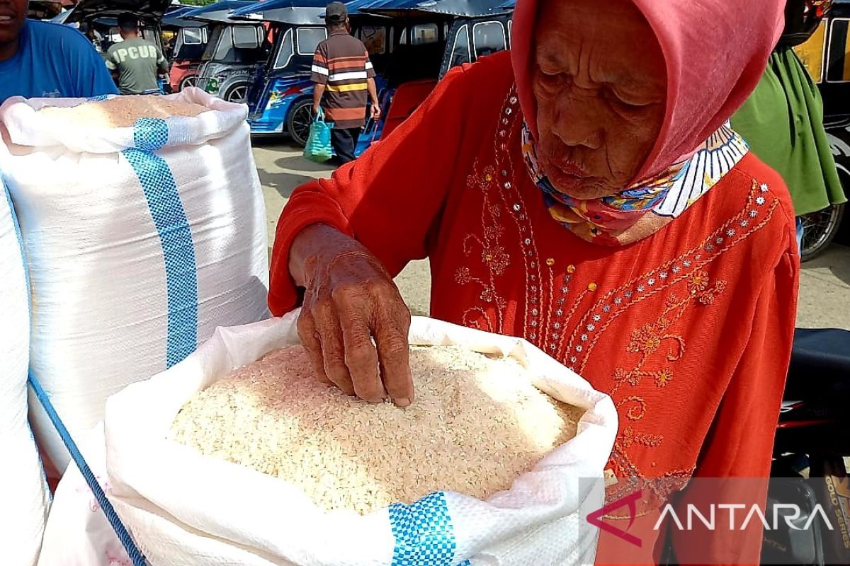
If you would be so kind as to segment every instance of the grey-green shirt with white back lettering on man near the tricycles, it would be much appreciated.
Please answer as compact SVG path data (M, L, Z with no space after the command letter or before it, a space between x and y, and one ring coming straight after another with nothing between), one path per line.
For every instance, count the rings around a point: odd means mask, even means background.
M106 67L118 73L122 94L158 91L157 70L167 72L168 62L156 45L141 37L116 43L106 52Z

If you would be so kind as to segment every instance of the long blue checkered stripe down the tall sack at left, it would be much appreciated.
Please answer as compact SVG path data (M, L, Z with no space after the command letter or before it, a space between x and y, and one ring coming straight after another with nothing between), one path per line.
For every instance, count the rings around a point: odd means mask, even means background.
M138 120L136 125L139 126ZM137 146L153 148L164 145L168 131L161 125L146 124L134 129ZM164 128L164 132L163 132ZM144 136L150 135L150 138ZM146 139L146 141L145 141ZM161 147L161 145L160 145ZM122 154L133 167L148 201L150 216L159 233L168 301L167 367L189 356L198 344L198 281L195 263L195 244L177 183L168 164L149 150L125 149Z

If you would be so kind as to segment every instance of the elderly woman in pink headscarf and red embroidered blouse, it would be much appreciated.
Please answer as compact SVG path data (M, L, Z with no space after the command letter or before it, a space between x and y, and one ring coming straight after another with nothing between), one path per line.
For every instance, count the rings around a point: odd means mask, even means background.
M782 27L780 0L747 6L519 0L511 53L298 188L269 304L303 289L320 379L413 402L391 277L428 257L433 317L524 337L612 396L609 495L668 480L640 520L692 476L767 476L799 257L782 179L727 125Z

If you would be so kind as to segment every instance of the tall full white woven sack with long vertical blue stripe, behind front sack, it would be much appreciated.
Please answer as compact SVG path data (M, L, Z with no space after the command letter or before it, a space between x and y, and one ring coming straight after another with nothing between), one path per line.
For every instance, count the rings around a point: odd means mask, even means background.
M246 107L198 89L173 96L212 111L71 128L37 109L82 99L0 107L0 169L31 270L31 367L72 435L103 419L107 396L182 360L218 326L267 316ZM61 472L67 451L31 406Z

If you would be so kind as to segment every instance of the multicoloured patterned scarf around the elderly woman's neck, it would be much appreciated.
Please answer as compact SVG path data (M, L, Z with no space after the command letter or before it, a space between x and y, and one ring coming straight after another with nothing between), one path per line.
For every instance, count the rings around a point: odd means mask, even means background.
M640 238L627 234L648 214L658 216L660 229L681 215L717 184L749 151L744 139L725 124L700 146L689 160L668 167L657 177L638 182L621 193L601 199L573 199L559 193L543 173L536 144L528 126L523 126L523 156L531 179L543 192L549 214L576 236L592 244L632 244ZM651 220L651 219L650 219ZM638 231L640 233L640 231Z

